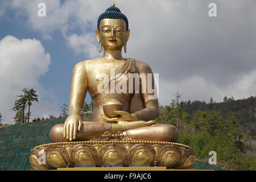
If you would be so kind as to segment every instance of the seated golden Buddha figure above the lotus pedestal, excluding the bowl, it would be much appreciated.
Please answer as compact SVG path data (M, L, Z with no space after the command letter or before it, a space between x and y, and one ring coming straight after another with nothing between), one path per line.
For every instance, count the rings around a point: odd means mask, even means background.
M159 116L159 103L157 97L150 99L150 96L156 94L154 77L149 77L152 75L150 66L142 61L122 56L122 47L126 53L130 30L126 16L114 6L114 3L99 16L96 36L99 52L101 52L102 46L104 47L104 56L81 61L73 68L69 115L64 124L52 127L49 134L51 142L96 139L106 131L112 134L121 131L127 140L176 142L178 131L175 126L155 124L154 122L154 119ZM114 77L112 83L108 82L109 84L105 85L104 92L100 92L98 88L101 87L102 78L99 75L102 73L110 79L118 74L121 77ZM129 74L134 75L135 73L138 75L144 73L147 80L151 79L152 88L143 93L142 85L146 84L145 88L148 88L148 82L140 78L139 92L136 92L136 86L131 88L133 85L128 83L122 84L122 89L129 92L116 92L118 84L123 79L130 78ZM134 80L135 78L133 78ZM111 88L113 84L114 90ZM110 92L105 92L106 89ZM82 122L80 117L87 92L94 103L92 122ZM103 106L113 99L121 102L123 110L115 111L118 117L109 118L104 114Z

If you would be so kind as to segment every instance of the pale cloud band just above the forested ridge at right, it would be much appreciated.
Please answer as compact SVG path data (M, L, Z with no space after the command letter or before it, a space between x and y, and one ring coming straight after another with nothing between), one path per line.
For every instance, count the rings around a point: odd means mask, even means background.
M181 93L181 100L200 100L209 102L210 97L216 102L222 102L225 96L242 99L249 96L256 96L256 71L234 81L230 85L218 85L199 76L192 76L181 82L159 78L159 102L162 105L169 105L175 99L175 93ZM193 99L192 99L193 98Z

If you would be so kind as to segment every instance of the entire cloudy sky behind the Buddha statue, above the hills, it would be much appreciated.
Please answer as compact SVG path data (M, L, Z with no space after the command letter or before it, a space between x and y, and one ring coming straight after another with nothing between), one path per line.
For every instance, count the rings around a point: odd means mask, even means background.
M46 3L46 17L38 4ZM98 15L114 2L129 19L131 35L124 57L148 63L159 73L159 102L181 99L221 102L255 96L256 2L242 1L59 1L0 2L0 113L10 110L23 88L35 88L40 101L32 118L58 116L69 104L72 69L101 57L95 36ZM209 3L217 17L208 15ZM24 66L25 65L25 66ZM31 71L34 70L34 71ZM90 102L89 94L86 102Z

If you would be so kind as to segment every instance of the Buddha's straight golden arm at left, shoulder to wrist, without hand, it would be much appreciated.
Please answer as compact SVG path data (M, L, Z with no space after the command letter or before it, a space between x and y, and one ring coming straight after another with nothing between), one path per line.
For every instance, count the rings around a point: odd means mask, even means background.
M73 68L68 115L80 115L88 88L86 64L77 63Z

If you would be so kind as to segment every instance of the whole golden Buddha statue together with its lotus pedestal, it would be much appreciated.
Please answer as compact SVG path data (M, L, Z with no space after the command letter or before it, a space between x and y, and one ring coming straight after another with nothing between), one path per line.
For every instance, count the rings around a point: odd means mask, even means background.
M81 61L73 68L69 115L64 124L52 127L52 143L31 150L34 169L108 164L179 169L193 166L192 148L175 143L177 128L154 122L159 104L150 66L122 57L129 35L126 16L112 3L99 16L96 30L104 56ZM90 122L80 117L87 92L94 103Z

